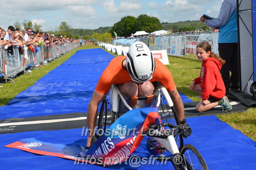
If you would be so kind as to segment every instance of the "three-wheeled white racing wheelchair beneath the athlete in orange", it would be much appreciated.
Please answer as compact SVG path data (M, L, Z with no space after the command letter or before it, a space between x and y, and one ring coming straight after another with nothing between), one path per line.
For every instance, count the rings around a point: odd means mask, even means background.
M155 92L147 97L129 98L124 96L114 84L111 87L109 95L102 101L98 129L104 131L114 123L121 115L129 110L141 107L158 107L160 124L150 126L148 131L143 132L147 136L153 137L154 140L147 141L151 148L160 151L157 160L171 161L175 169L208 169L205 160L198 150L191 144L184 145L183 135L188 129L180 125L173 102L166 88L159 82L156 84ZM170 130L171 131L166 131ZM149 135L149 131L155 131L155 135ZM97 136L96 136L97 137ZM98 136L99 137L99 136ZM153 143L159 142L161 146L155 146ZM166 157L164 151L169 151L173 156ZM177 162L180 158L180 162Z

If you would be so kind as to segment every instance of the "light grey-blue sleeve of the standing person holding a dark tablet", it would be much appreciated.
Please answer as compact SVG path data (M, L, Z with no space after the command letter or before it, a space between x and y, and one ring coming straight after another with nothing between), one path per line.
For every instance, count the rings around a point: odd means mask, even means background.
M205 24L208 27L222 27L225 26L231 17L232 13L236 10L230 2L224 1L222 3L221 11L216 19L206 19Z

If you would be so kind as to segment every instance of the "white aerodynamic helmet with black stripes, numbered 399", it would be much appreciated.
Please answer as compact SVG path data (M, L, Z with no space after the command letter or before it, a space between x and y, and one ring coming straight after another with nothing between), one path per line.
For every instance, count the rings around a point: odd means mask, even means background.
M155 71L155 60L149 47L143 42L134 42L126 55L126 66L133 81L149 81Z

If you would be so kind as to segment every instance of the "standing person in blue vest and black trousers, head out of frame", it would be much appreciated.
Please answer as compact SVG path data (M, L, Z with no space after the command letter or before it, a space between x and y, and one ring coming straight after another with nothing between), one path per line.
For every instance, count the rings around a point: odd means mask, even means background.
M200 21L208 27L220 27L218 52L220 57L226 61L220 71L226 87L226 94L229 89L239 89L240 67L237 46L236 0L224 0L218 18L206 19L201 16Z

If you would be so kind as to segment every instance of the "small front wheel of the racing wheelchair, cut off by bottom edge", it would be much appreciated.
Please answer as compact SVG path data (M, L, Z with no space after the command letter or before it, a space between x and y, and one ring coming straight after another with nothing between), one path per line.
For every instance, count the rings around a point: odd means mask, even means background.
M208 170L204 158L195 146L191 144L184 145L181 149L180 156L182 157L181 169Z

